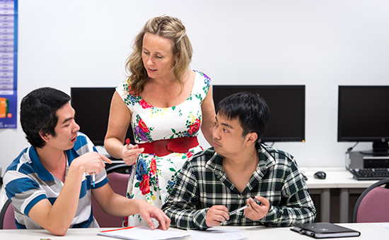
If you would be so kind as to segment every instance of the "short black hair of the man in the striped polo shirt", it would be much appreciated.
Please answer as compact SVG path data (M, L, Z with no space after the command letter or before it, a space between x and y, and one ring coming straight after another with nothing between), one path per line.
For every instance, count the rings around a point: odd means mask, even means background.
M38 88L25 95L21 101L21 126L28 143L35 148L45 146L40 136L49 134L57 137L57 110L70 101L70 96L54 88Z

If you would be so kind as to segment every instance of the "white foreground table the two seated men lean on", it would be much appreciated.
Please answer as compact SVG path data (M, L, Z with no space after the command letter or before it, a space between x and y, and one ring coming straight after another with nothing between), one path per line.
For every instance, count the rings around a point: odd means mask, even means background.
M349 227L351 229L361 232L361 236L358 238L347 238L347 239L358 239L358 240L371 240L371 239L382 239L383 236L388 236L389 229L383 227L378 227L375 223L349 223L349 224L339 224L344 227ZM231 227L221 227L231 228ZM235 227L233 227L235 228ZM309 236L301 235L296 232L292 232L290 227L239 227L239 229L247 235L247 239L274 239L274 240L285 240L285 239L294 239L294 240L309 240ZM0 239L6 240L40 240L40 239L61 239L61 240L94 240L94 239L113 239L107 236L98 236L99 231L107 229L69 229L65 236L54 236L43 229L17 229L17 230L0 230ZM190 239L185 238L185 239ZM344 238L335 238L335 239L344 239Z

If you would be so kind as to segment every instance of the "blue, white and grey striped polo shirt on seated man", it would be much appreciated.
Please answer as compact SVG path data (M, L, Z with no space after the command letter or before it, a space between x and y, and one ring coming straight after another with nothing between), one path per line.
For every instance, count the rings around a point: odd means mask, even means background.
M74 147L65 151L67 156L66 175L69 165L76 157L93 151L97 152L91 140L79 132ZM70 227L98 227L92 212L91 189L100 188L107 183L105 169L95 175L95 187L92 186L91 176L84 174L79 193L79 207ZM64 183L43 167L35 148L30 146L25 148L6 169L4 186L6 195L13 205L18 229L39 229L42 227L31 220L28 213L42 199L47 198L50 203L54 204Z

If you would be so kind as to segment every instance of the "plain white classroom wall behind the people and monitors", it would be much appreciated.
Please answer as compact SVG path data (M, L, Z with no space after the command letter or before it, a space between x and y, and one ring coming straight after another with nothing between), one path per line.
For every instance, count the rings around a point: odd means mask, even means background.
M191 68L215 85L306 85L306 143L274 144L301 167L342 167L354 145L337 143L338 85L389 83L385 0L18 3L18 106L43 86L69 94L71 87L115 87L135 35L163 14L185 24L194 48ZM27 146L20 124L0 130L1 175ZM359 143L355 150L370 148Z

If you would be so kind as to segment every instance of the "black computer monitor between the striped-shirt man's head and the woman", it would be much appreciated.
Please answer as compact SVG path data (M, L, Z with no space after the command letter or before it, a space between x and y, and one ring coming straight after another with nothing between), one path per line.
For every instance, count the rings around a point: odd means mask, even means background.
M104 145L110 105L115 88L71 88L71 106L76 110L76 123L94 145ZM134 144L132 128L126 138Z

